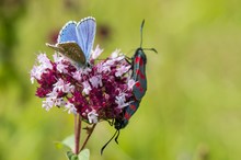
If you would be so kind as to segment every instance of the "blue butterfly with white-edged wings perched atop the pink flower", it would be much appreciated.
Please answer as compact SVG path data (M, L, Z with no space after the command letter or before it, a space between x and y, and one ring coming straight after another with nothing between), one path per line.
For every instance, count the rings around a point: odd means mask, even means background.
M96 22L92 16L84 18L78 23L69 21L59 32L57 44L46 45L69 58L78 67L87 66L90 61L95 32Z

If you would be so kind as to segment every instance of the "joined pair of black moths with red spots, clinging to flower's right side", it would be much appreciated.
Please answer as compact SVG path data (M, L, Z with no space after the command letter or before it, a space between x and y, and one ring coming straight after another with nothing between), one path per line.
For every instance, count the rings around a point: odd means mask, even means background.
M119 129L125 128L129 122L129 118L134 115L137 108L140 105L140 102L147 91L147 77L146 77L146 65L147 57L144 50L153 50L157 53L154 48L142 48L142 28L144 28L145 20L140 26L140 47L136 49L135 55L131 58L131 79L135 81L133 85L133 99L130 103L124 107L123 112L118 117L114 119L114 126L116 128L116 133L113 137L102 147L101 153L103 153L104 148L108 145L108 142L115 137L115 141L118 144L117 138L119 135ZM117 136L116 136L117 134Z

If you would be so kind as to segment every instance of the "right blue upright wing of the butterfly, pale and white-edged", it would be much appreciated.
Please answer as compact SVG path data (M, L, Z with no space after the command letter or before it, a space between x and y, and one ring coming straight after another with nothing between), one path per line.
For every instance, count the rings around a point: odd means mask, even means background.
M78 45L83 50L87 61L90 60L91 49L94 44L94 36L96 31L96 22L94 18L82 19L77 24L77 39Z

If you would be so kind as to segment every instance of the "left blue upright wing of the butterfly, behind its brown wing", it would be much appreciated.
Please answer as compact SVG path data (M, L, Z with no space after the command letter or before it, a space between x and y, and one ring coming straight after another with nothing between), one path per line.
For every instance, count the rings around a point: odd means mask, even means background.
M78 43L77 38L77 23L74 21L69 21L62 26L61 31L58 35L58 44L66 43L66 42L74 42Z

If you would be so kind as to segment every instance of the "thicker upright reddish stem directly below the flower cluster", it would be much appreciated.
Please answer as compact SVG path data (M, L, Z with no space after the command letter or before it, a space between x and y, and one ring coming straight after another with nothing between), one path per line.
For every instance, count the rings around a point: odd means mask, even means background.
M74 153L79 155L79 148L80 148L80 135L81 135L81 115L77 114L74 115Z

